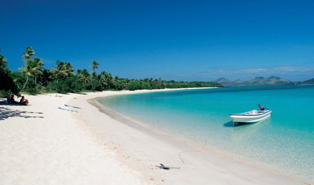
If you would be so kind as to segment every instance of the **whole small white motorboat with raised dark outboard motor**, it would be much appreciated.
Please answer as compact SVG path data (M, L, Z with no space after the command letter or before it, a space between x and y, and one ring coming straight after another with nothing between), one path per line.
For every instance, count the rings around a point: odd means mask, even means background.
M258 106L260 110L251 110L239 114L229 114L229 116L232 118L233 125L257 122L270 116L271 110L261 104L258 104Z

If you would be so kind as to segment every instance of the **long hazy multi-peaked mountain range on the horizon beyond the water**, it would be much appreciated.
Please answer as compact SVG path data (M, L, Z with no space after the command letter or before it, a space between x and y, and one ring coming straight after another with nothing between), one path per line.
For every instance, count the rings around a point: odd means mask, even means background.
M313 79L312 79L313 80ZM264 85L292 85L293 82L280 77L255 77L248 81L241 81L239 79L231 81L226 78L220 78L214 82L220 83L223 86L264 86Z

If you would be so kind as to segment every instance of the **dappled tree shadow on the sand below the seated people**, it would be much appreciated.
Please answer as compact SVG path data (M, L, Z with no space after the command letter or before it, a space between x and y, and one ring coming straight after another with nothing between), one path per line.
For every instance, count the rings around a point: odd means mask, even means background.
M12 104L14 105L14 104ZM15 104L17 105L17 104ZM17 106L23 106L23 105L17 105ZM18 111L13 110L6 107L0 107L0 120L5 120L9 117L24 117L24 118L30 118L30 117L40 117L44 118L43 116L35 116L35 115L29 115L29 114L42 114L43 112L29 112L29 111ZM28 114L28 115L24 115Z

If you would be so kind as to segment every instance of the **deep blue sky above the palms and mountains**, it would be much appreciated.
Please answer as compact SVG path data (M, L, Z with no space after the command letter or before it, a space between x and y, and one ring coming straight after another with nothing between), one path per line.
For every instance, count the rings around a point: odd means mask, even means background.
M13 71L32 46L129 79L314 78L314 1L5 1L0 48Z

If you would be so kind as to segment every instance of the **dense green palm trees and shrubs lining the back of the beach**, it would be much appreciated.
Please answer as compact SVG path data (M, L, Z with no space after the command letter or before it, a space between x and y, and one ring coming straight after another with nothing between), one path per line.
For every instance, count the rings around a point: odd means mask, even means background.
M0 50L1 51L1 50ZM66 62L57 60L53 69L45 69L44 61L36 56L32 47L27 47L21 57L19 71L12 72L7 66L7 58L0 54L0 96L20 95L20 92L31 95L40 93L79 93L104 90L139 90L190 87L221 87L215 82L177 82L159 79L128 79L113 76L101 71L97 73L98 61L91 62L92 74L87 70L76 70Z

